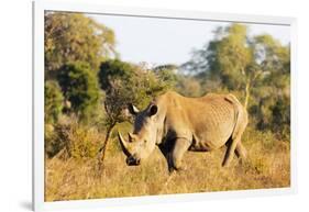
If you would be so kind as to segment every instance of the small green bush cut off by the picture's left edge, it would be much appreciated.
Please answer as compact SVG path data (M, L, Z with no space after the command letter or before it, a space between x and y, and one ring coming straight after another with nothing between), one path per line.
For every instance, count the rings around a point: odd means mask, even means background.
M54 123L57 122L58 116L63 110L64 97L59 85L56 81L48 80L45 82L45 122Z

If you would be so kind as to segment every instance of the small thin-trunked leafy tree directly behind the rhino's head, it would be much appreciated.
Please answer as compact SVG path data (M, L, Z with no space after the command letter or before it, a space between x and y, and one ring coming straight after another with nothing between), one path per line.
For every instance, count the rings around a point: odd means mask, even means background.
M125 114L129 103L144 108L154 97L168 89L153 70L124 63L118 59L101 64L99 71L101 88L106 92L107 136L101 148L101 160L104 160L106 147L117 123L130 121Z

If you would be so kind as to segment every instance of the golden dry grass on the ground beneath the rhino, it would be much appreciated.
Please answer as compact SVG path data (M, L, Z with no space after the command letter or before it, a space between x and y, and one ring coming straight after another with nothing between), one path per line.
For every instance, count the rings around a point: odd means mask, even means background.
M249 152L245 163L234 157L230 167L222 168L224 149L187 153L184 160L187 170L175 175L167 185L167 165L158 149L142 166L128 167L124 155L112 141L101 171L96 159L46 159L45 200L289 187L288 142L275 141L272 134L253 130L246 131L243 142Z

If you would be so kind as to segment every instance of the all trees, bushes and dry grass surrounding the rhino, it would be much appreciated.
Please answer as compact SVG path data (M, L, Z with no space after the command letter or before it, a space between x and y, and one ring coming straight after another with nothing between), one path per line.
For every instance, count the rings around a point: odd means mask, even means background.
M150 67L120 56L111 29L84 14L46 12L46 200L289 185L289 45L230 24L216 29L213 40L180 66ZM221 155L188 154L191 171L166 188L167 171L157 153L142 167L125 167L114 129L131 130L129 103L144 108L166 90L187 97L234 93L250 113L243 141L249 160L221 170Z

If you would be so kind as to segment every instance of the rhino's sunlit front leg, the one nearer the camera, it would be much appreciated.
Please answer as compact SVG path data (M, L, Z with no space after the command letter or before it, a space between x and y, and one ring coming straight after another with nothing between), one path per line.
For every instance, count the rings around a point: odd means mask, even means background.
M168 170L173 172L173 170L180 170L181 161L185 153L190 147L191 142L186 138L176 138L174 148L169 156L168 161Z

